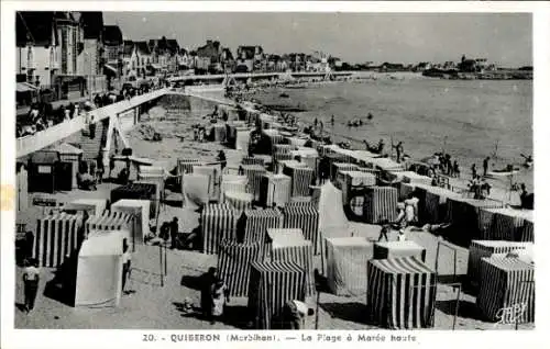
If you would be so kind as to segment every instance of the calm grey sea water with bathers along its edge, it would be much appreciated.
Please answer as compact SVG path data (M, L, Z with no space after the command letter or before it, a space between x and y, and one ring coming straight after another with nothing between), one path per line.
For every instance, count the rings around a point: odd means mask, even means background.
M279 97L283 91L288 98ZM254 98L306 109L296 115L322 121L336 139L343 136L374 145L383 138L386 149L391 140L402 140L405 153L418 159L444 149L459 161L463 174L470 174L474 162L480 173L486 156L492 156L492 169L519 166L520 154L531 155L534 148L532 81L528 80L378 79L278 88ZM348 121L356 117L366 124L349 127ZM532 188L532 169L521 168L516 180Z

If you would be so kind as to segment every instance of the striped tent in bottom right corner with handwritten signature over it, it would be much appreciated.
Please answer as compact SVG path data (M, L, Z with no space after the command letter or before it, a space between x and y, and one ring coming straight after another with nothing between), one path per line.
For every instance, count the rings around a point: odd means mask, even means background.
M535 266L515 257L482 258L476 304L491 322L501 320L501 309L514 306L525 308L516 314L518 324L535 322Z

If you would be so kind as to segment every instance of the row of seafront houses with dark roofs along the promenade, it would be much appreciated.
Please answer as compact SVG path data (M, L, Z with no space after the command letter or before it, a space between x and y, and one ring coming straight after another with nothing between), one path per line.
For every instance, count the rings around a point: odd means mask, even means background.
M243 45L233 55L212 40L194 50L164 36L125 40L118 25L103 23L102 12L18 12L15 32L18 82L40 88L69 80L125 80L190 69L196 74L222 74L326 71L341 67L339 58L321 52L275 55L258 45Z

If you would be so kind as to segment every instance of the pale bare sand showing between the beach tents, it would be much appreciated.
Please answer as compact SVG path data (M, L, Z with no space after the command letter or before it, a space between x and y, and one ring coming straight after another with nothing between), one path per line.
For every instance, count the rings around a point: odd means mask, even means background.
M222 146L215 143L195 143L190 125L200 121L200 116L183 115L179 122L157 121L154 128L163 135L163 142L154 143L143 140L135 126L129 133L129 140L134 149L134 155L156 160L155 165L172 169L177 158L200 158L212 160L217 150ZM175 134L184 135L185 143L174 137ZM54 196L62 201L86 198L109 198L113 184L100 184L96 192L73 191L70 193L57 193ZM31 195L32 196L32 195ZM169 193L168 198L177 200L180 194ZM40 209L33 209L38 210ZM38 213L38 212L36 212ZM35 213L35 214L36 214ZM30 225L35 222L36 215L28 214L19 216L18 219ZM178 206L163 205L160 222L179 217L180 230L190 232L197 226L197 214ZM376 239L380 233L378 226L361 223L351 223L351 230L356 236ZM396 233L392 234L396 238ZM438 238L428 234L419 233L410 235L410 239L417 241L427 249L427 263L435 266ZM466 272L468 250L454 247L458 255L458 275ZM246 306L246 299L234 299L228 307L228 318L224 323L210 325L195 314L185 314L182 304L185 299L199 305L199 291L196 289L196 277L206 272L209 267L217 264L216 256L206 256L196 251L167 250L167 275L164 285L161 285L160 247L138 246L133 254L132 263L134 270L129 281L129 288L133 292L123 295L120 307L102 309L74 308L43 294L47 281L53 279L54 270L42 268L41 285L35 309L26 315L21 311L23 302L22 269L16 268L15 280L15 328L73 328L73 329L234 329L245 328L245 319L242 317ZM317 268L320 268L320 258L315 259ZM451 249L441 248L439 257L439 273L447 279L453 273L453 252ZM452 278L451 278L452 279ZM365 290L366 292L366 290ZM318 313L319 329L370 329L375 328L365 324L365 299L366 295L356 297L340 297L327 293L320 295ZM438 285L437 309L435 329L451 329L454 302L457 293L443 284ZM315 299L309 302L310 307L316 308ZM308 318L307 327L315 328L315 318ZM534 325L521 325L520 328L532 328ZM492 323L479 319L475 308L475 297L462 293L457 329L492 329ZM512 329L510 325L496 328Z

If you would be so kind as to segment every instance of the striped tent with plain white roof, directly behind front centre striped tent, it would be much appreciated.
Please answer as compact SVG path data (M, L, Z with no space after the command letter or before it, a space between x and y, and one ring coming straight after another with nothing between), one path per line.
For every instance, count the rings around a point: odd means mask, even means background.
M306 272L306 295L315 293L314 249L301 229L267 229L265 257L272 261L290 261Z

